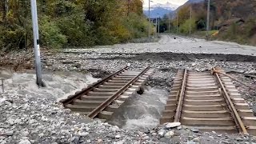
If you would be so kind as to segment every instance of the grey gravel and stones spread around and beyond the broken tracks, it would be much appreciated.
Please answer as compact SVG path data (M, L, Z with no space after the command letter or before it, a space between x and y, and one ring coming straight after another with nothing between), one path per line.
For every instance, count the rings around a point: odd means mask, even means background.
M201 47L200 47L201 46ZM221 66L234 77L255 86L255 79L244 74L255 74L253 46L241 46L229 42L206 42L194 38L176 38L163 35L159 42L128 43L114 46L97 46L93 49L67 49L58 54L42 52L42 68L45 71L90 72L94 77L106 75L130 63L131 70L152 66L154 74L150 86L170 90L176 72L205 71ZM193 53L193 54L191 54ZM241 55L242 54L242 55ZM15 70L33 69L33 60L27 58L18 65L26 53L10 54L0 58L1 66ZM211 56L212 55L212 56ZM10 57L10 59L8 59ZM29 57L29 56L28 56ZM8 62L4 62L8 60ZM15 67L16 66L16 67ZM44 72L45 73L45 72ZM256 92L235 82L243 98L256 107ZM14 88L18 85L14 85ZM54 98L33 97L32 93L0 94L0 144L4 143L256 143L256 137L241 134L218 134L186 129L156 126L142 130L120 129L108 123L91 121L71 113Z

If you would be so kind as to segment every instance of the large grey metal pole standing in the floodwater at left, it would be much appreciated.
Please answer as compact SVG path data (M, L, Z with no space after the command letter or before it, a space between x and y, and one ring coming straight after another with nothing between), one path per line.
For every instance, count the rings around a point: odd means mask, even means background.
M37 76L37 84L39 87L44 86L42 83L42 68L40 58L40 46L39 46L39 34L38 34L38 10L36 0L30 0L31 2L31 14L33 23L33 35L34 35L34 58L35 68Z

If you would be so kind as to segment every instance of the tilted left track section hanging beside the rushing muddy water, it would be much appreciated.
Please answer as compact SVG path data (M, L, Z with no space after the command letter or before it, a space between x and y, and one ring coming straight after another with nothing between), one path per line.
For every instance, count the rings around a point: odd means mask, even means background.
M63 106L90 118L100 118L104 121L111 117L114 110L118 109L126 98L140 90L153 71L150 66L142 71L122 68L93 86L62 100Z

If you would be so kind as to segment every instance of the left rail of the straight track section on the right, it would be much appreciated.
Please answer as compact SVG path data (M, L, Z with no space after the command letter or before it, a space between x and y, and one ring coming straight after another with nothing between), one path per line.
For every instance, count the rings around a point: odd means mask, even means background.
M174 116L174 122L179 122L182 115L182 105L183 105L184 93L186 89L186 78L187 78L187 70L185 69L183 79L182 79L182 90L180 90L180 94L178 98L178 106Z

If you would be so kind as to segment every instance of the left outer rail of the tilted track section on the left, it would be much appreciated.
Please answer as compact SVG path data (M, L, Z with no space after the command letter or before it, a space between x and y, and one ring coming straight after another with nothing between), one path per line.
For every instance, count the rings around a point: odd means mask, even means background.
M108 77L102 79L101 81L95 83L92 86L87 87L85 90L80 91L78 94L74 94L72 97L66 98L65 100L61 101L63 103L63 106L66 106L66 105L70 104L71 102L74 102L74 100L81 98L82 95L89 93L91 90L94 90L94 88L97 88L98 86L102 85L104 82L107 82L114 76L121 74L123 71L127 70L127 68L128 68L128 66L122 68L121 70L118 70L114 74L110 74Z

